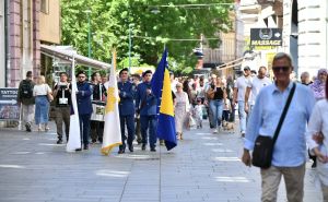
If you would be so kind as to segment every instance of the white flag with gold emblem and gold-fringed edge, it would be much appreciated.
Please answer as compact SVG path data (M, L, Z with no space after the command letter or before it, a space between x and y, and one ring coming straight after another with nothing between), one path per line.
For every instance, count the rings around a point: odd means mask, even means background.
M118 109L118 88L116 81L116 52L113 52L112 69L107 87L107 103L105 108L105 129L103 135L102 153L108 155L110 151L121 144L120 121Z

